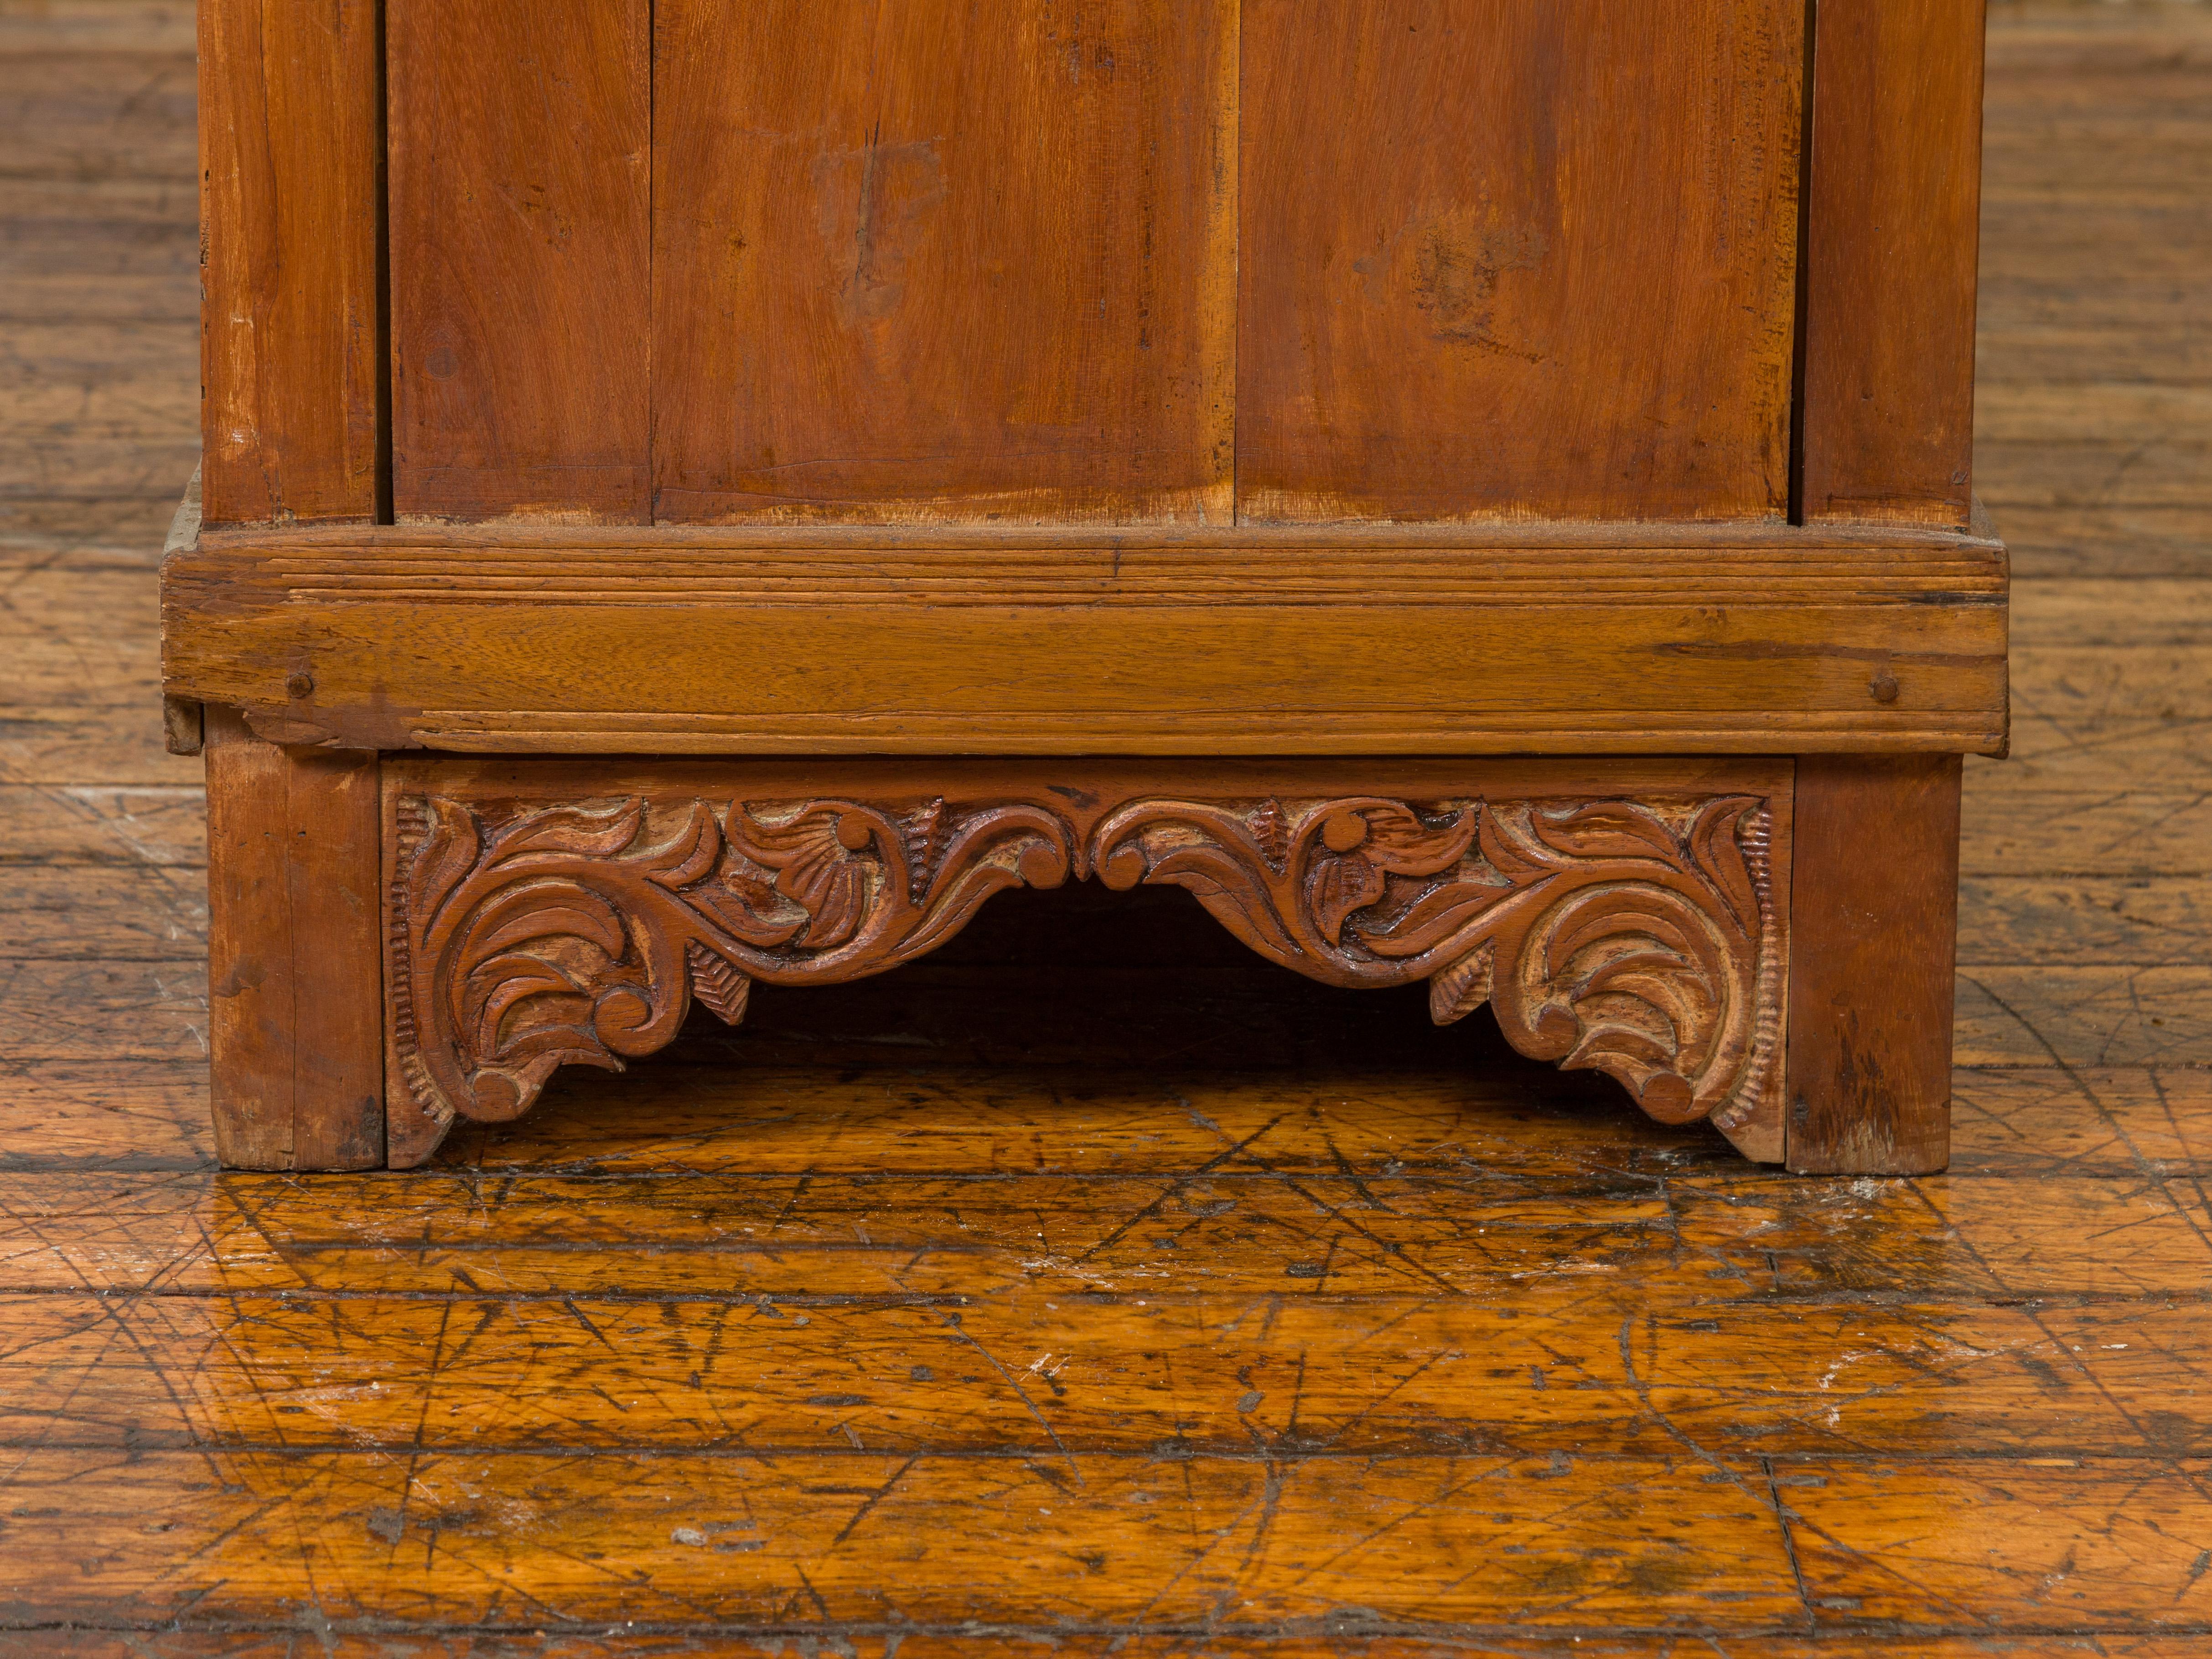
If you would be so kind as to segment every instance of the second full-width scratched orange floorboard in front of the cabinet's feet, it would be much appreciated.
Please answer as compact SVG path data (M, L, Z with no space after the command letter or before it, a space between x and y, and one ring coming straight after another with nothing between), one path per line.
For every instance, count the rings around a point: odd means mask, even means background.
M1290 1467L1440 1451L1666 1458L1686 1442L1770 1458L1973 1447L1991 1460L2212 1444L2212 1411L2179 1380L2205 1363L2199 1301L1674 1303L1537 1283L1506 1305L1433 1287L1294 1296L1265 1329L1228 1329L1203 1301L1144 1301L1015 1290L969 1307L763 1312L692 1294L237 1292L108 1310L88 1292L0 1294L15 1336L0 1356L0 1444L1053 1460L1164 1444L1241 1458L1261 1440ZM442 1363L453 1321L473 1343ZM2068 1411L2053 1411L2055 1394L2073 1396ZM66 1407L49 1416L46 1400Z

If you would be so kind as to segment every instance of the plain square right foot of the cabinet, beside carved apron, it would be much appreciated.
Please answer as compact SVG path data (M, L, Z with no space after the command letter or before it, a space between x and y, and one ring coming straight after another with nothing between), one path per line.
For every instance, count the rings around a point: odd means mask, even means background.
M1927 1175L1951 1157L1955 754L1796 763L1790 1157Z

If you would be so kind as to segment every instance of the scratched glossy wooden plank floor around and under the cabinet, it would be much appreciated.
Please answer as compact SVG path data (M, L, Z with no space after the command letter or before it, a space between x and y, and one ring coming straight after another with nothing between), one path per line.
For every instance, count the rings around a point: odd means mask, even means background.
M2212 7L1989 95L1951 1175L1077 894L281 1179L155 695L190 11L0 0L0 1652L2212 1652Z

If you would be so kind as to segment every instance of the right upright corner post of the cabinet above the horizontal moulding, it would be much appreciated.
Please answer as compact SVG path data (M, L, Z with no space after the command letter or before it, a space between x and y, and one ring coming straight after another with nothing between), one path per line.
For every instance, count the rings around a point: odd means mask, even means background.
M1805 204L1805 522L1966 524L1982 0L1823 0Z

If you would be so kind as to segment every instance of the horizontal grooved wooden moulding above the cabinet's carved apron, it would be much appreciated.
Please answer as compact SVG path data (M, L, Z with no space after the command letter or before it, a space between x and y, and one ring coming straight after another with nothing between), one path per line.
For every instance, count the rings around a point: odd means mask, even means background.
M1772 754L2004 732L2002 551L1971 538L201 538L166 575L166 686L361 748Z

